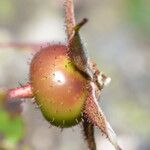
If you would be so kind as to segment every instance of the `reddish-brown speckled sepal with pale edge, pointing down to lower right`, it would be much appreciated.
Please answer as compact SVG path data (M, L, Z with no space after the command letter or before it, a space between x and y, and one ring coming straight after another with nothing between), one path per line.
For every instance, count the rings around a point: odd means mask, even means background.
M95 96L95 89L95 84L91 82L89 85L89 96L84 106L84 114L95 126L101 130L103 134L106 135L116 150L121 150L117 142L115 132L111 128L110 124L106 120L104 113L98 105L98 101Z

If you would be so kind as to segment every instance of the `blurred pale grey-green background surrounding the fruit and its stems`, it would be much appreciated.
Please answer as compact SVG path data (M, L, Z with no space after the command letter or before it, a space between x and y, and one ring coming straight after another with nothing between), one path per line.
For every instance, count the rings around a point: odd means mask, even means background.
M124 150L150 150L150 1L75 0L90 57L112 78L100 105ZM64 43L63 0L0 0L0 87L28 82L38 48L6 43ZM0 91L2 93L2 91ZM2 98L2 94L0 94ZM22 100L23 101L23 100ZM95 130L97 149L113 146ZM51 127L30 100L0 109L0 150L87 150L80 125Z

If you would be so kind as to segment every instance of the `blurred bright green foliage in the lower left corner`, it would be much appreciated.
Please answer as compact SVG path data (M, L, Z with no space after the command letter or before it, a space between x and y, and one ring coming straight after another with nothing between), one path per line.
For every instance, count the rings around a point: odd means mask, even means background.
M23 120L13 115L4 106L5 92L0 91L0 149L13 149L24 135Z

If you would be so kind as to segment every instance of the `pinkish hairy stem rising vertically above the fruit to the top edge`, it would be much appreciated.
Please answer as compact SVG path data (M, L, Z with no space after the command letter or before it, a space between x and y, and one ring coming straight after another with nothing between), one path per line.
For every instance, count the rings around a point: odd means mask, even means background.
M65 0L65 19L66 19L66 32L68 40L74 35L75 16L73 0Z

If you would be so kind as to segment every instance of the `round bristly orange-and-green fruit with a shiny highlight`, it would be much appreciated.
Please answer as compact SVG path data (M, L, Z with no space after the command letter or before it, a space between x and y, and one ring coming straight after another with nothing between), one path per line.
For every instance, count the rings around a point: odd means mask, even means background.
M87 80L72 64L65 45L40 50L30 67L35 100L44 117L58 127L80 122L87 97Z

